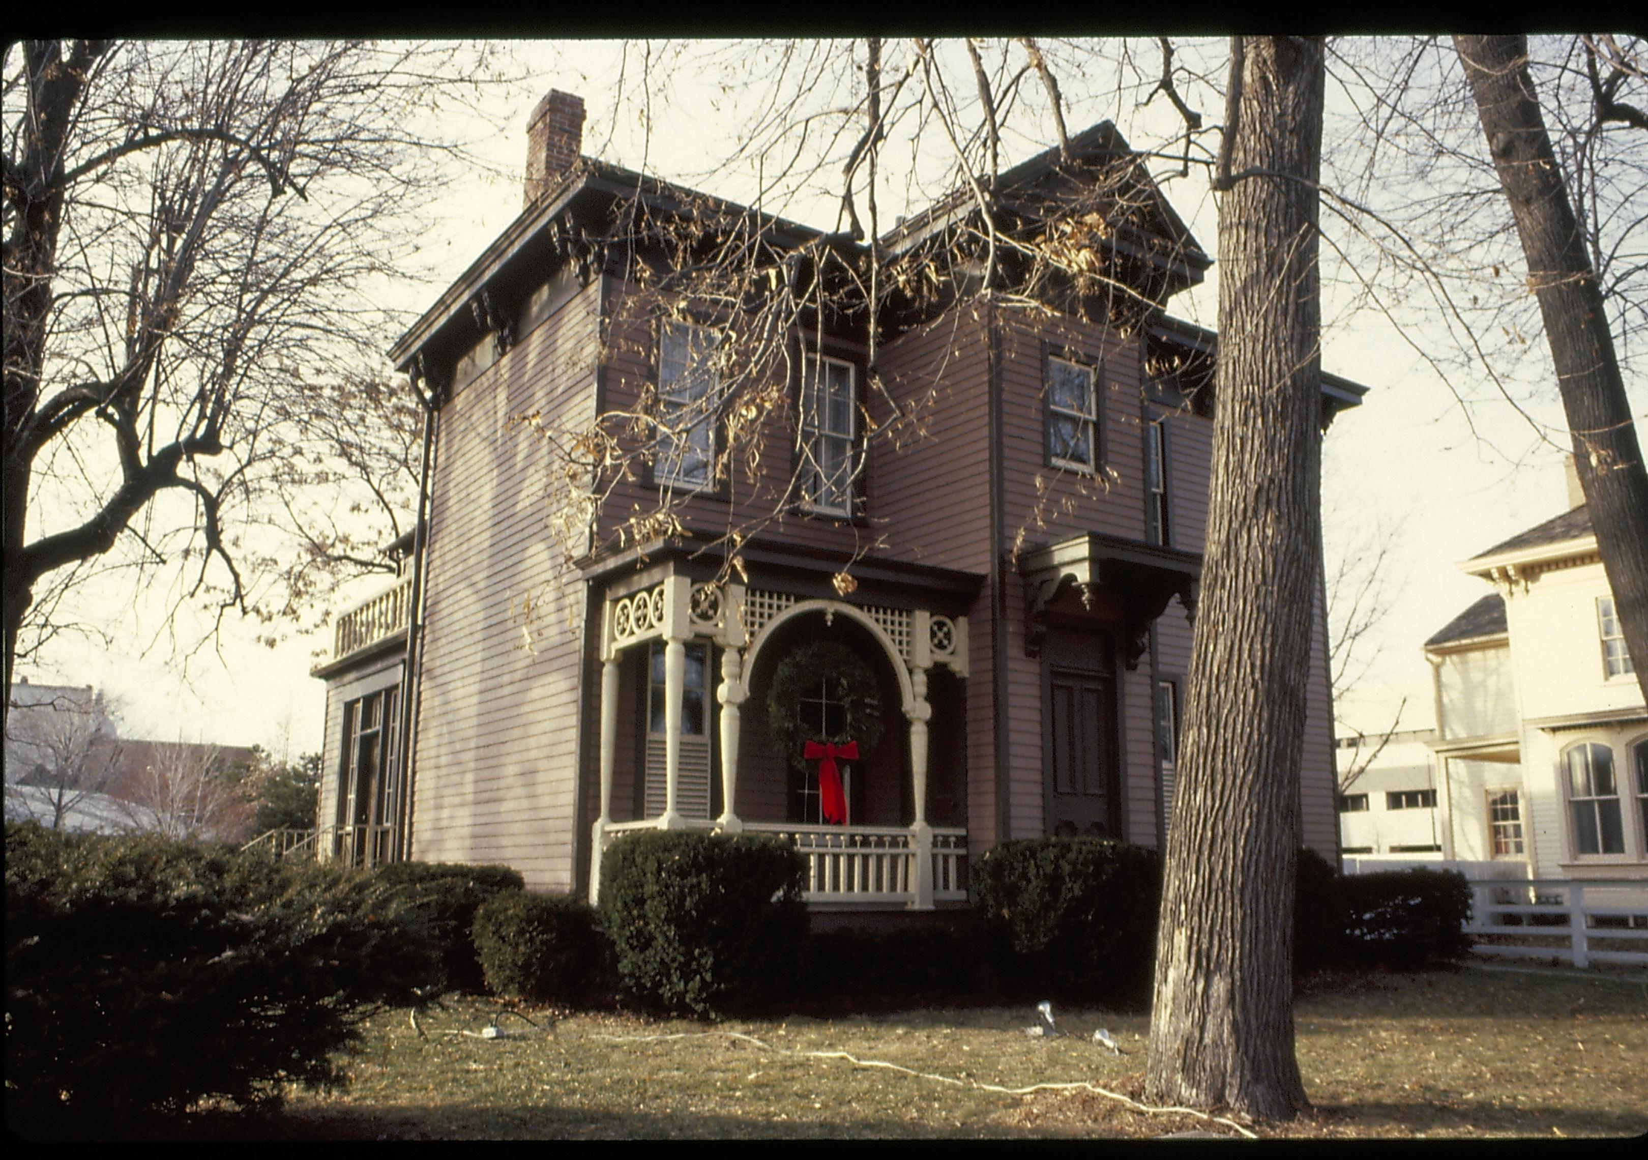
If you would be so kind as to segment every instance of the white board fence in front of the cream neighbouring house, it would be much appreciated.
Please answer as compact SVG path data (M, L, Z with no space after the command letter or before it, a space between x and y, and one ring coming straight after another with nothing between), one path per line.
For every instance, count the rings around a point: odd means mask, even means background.
M1472 921L1465 933L1478 941L1478 954L1508 957L1562 957L1575 967L1622 962L1648 967L1648 882L1533 878L1526 882L1473 882ZM1510 939L1516 939L1511 942ZM1567 946L1529 946L1549 939ZM1640 951L1599 949L1599 939L1640 944Z

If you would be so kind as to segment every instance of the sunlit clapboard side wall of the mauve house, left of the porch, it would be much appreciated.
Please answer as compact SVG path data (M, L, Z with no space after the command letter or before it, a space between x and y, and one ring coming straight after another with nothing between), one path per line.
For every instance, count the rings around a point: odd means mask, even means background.
M547 527L537 412L593 419L595 287L476 376L442 412L430 496L414 857L503 862L569 890L575 812L582 580Z

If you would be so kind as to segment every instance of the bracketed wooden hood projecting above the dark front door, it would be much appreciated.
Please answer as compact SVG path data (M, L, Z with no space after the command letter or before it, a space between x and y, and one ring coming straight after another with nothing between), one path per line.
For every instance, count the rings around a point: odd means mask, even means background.
M1150 624L1178 596L1195 621L1201 557L1119 536L1083 536L1027 552L1018 570L1025 580L1025 652L1042 656L1048 613L1066 590L1094 611L1099 593L1114 595L1122 610L1124 657L1129 669L1150 648ZM1074 610L1070 610L1074 611Z

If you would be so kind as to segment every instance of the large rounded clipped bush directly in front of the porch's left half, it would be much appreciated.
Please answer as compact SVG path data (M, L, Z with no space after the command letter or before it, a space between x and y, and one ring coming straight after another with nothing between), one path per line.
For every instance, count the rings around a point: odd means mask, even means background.
M801 966L806 863L755 835L628 834L602 860L602 924L641 1002L722 1015L784 997Z

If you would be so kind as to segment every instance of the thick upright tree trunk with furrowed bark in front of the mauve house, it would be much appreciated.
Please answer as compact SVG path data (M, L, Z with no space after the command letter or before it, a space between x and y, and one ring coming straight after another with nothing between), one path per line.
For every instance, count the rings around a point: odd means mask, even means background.
M1145 1091L1262 1119L1294 1056L1299 765L1320 552L1320 40L1238 38L1220 204L1208 547Z

